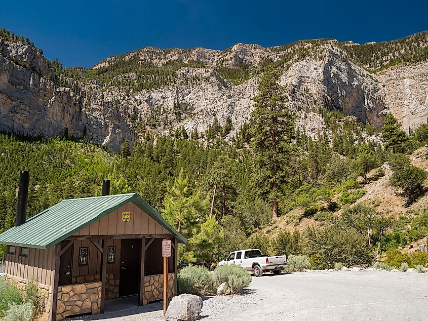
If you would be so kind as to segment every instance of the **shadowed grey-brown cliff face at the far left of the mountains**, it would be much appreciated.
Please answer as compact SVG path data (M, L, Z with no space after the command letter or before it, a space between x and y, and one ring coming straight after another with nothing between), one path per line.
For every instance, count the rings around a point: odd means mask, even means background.
M124 112L110 102L84 108L87 90L100 86L77 84L79 94L51 80L48 61L31 47L0 39L0 131L36 137L84 134L94 143L119 151L122 142L136 134ZM95 88L93 88L95 87Z

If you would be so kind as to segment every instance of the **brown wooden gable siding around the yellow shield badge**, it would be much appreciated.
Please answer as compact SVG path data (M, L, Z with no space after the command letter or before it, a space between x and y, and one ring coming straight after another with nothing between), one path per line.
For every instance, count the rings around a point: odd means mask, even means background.
M131 220L122 221L122 212L130 212ZM161 224L141 211L132 202L111 212L102 219L76 232L75 236L86 235L141 235L141 234L171 234Z

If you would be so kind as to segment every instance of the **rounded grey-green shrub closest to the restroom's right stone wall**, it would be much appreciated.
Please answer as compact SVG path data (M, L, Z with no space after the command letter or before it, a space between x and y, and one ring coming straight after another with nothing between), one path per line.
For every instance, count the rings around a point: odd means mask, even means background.
M177 287L180 294L212 294L213 274L202 266L187 266L178 273Z

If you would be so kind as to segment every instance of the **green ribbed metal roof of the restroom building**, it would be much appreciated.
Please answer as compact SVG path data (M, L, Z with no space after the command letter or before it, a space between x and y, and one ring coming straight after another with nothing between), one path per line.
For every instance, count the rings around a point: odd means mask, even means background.
M132 202L176 236L187 240L137 193L66 199L39 213L20 226L0 234L0 244L49 249L75 232Z

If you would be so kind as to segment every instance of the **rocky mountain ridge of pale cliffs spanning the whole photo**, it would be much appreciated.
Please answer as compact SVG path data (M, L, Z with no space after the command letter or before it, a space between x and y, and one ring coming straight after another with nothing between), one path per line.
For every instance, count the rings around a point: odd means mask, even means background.
M257 79L268 63L282 68L281 83L298 115L297 127L309 136L326 132L319 108L340 110L375 128L389 111L407 131L426 123L428 62L373 73L354 62L363 57L357 57L358 46L319 39L271 48L237 44L224 51L143 48L107 58L88 70L108 71L111 77L102 82L71 78L54 70L28 44L2 37L0 131L57 137L66 130L69 137L85 137L115 151L125 139L132 145L137 132L148 127L158 133L172 133L180 126L188 133L204 133L215 117L223 125L230 116L234 133L251 116ZM175 69L167 69L174 64ZM167 80L139 86L143 65L155 68L152 73L148 69L145 82ZM118 66L127 72L117 71ZM245 81L227 79L235 71L245 74Z

